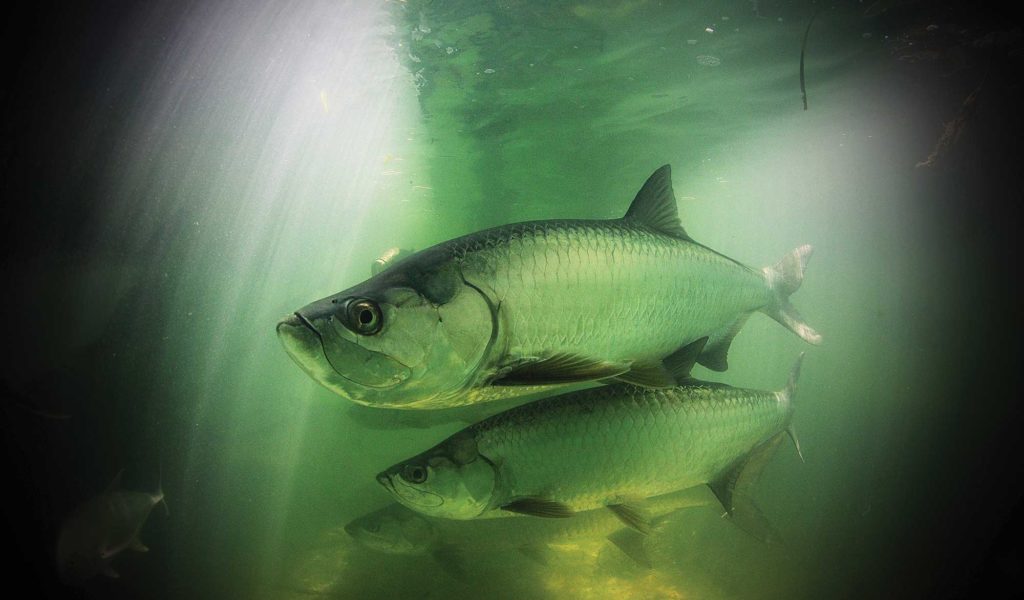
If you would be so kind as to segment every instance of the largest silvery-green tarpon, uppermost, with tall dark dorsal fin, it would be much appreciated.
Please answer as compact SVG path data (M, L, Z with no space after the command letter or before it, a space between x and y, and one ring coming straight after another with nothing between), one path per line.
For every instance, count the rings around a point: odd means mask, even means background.
M531 221L414 253L278 324L328 389L375 406L436 409L569 383L670 387L664 360L702 337L722 371L755 311L820 336L788 302L811 253L753 269L679 222L668 165L621 219Z

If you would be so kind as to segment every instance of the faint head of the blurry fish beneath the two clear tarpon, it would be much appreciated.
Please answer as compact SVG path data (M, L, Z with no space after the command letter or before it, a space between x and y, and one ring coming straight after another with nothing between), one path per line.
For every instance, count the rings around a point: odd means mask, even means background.
M424 554L437 539L430 521L399 504L352 519L345 531L361 546L385 554Z

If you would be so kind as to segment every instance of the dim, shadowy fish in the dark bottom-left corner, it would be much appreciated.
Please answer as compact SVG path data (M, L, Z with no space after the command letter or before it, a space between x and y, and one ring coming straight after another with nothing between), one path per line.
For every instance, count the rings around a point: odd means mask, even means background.
M158 504L163 504L163 486L155 494L121 489L121 473L99 496L78 507L60 528L57 539L57 571L69 584L82 584L98 573L117 577L110 561L122 550L146 552L138 534Z

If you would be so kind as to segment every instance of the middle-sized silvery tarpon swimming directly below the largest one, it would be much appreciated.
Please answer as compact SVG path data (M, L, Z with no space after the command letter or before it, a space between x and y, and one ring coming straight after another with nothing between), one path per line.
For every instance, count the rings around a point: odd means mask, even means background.
M677 367L681 379L703 342ZM641 532L650 526L639 500L707 484L740 527L772 541L777 534L743 482L756 480L786 433L800 451L791 423L800 363L780 391L689 380L671 389L617 384L545 398L463 429L377 480L401 504L435 517L570 517L607 507Z

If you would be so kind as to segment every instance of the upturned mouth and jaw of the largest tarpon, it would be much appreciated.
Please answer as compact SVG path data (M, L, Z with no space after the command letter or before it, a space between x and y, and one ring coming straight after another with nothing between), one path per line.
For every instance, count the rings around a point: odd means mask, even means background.
M313 316L297 310L278 323L285 351L309 377L324 387L360 403L366 396L393 388L412 376L412 370L358 343L331 314Z

